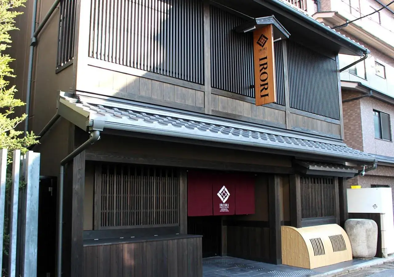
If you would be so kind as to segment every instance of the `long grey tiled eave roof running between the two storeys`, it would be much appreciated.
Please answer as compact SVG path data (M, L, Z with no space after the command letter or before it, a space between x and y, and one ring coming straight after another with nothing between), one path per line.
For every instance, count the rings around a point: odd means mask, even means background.
M303 152L344 160L374 161L373 156L344 143L232 123L219 117L186 115L93 97L76 100L63 95L61 99L63 103L74 106L74 111L87 114L89 120L104 122L104 128Z

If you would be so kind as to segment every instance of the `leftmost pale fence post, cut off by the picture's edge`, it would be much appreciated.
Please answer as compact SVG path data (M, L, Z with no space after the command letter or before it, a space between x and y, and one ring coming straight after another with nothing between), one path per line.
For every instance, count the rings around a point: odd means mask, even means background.
M7 149L0 150L0 274L3 272L4 209L6 206Z

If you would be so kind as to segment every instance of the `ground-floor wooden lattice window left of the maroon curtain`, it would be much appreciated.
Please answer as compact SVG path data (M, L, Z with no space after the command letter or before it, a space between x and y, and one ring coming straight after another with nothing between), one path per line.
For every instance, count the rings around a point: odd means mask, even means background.
M179 177L175 169L99 164L95 169L95 197L95 229L179 223Z

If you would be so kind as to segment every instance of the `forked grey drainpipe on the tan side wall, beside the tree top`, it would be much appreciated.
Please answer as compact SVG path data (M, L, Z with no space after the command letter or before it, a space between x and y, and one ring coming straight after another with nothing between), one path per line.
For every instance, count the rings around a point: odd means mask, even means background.
M28 65L28 73L27 73L27 84L26 84L26 114L27 117L25 119L24 125L24 133L25 135L29 132L29 113L30 113L30 95L32 94L32 75L33 75L33 61L34 61L34 47L37 45L37 36L44 28L46 22L49 20L52 13L55 11L56 7L59 5L60 0L55 0L55 2L50 7L48 13L46 13L43 21L35 28L35 20L37 18L37 2L38 0L34 0L33 2L33 13L32 13L32 40L30 42L30 50L29 50L29 65Z

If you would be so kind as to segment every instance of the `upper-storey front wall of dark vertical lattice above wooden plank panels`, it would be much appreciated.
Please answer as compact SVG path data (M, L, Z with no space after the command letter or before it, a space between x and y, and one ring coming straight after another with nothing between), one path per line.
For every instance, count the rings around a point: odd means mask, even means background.
M111 16L103 15L99 1L84 6L81 14L88 16L80 26L80 47L85 49L78 52L89 54L78 54L76 91L343 138L335 54L291 40L275 42L277 103L255 106L253 43L249 33L232 30L245 18L208 2L170 2L165 15L158 9L167 7L167 0L147 0L153 9L141 11L140 1L116 0L111 5L119 11ZM138 28L123 18L138 21ZM141 25L146 18L152 22ZM114 28L108 38L103 22ZM130 47L134 55L126 50Z

